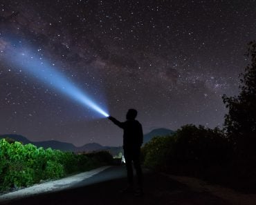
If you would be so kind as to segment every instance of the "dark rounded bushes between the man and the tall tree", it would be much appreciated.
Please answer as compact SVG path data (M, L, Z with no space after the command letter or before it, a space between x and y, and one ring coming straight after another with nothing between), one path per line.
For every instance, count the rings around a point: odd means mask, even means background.
M174 135L154 137L142 148L145 166L154 169L182 167L193 173L222 166L230 158L230 144L219 128L182 126Z

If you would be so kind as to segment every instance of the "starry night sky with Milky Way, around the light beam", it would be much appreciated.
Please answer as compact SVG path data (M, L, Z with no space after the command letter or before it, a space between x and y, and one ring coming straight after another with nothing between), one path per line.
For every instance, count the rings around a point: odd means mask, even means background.
M120 121L136 108L148 133L221 127L221 96L238 94L255 38L250 0L1 0L0 134L122 144L111 121L14 66L8 43L30 48Z

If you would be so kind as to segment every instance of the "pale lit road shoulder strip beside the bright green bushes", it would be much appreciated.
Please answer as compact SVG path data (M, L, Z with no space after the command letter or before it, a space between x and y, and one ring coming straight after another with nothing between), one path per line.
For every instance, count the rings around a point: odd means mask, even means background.
M6 193L4 195L0 195L0 202L7 202L12 199L20 199L22 197L38 195L39 193L61 191L66 188L71 188L73 186L76 186L77 183L82 182L84 179L88 179L89 177L92 177L93 175L98 174L102 172L102 170L105 170L106 168L109 168L109 167L110 166L103 166L100 168L96 168L94 170L73 175L71 177L66 177L66 178L54 180L51 182L45 182L44 184L36 184L28 188L23 188L19 191Z

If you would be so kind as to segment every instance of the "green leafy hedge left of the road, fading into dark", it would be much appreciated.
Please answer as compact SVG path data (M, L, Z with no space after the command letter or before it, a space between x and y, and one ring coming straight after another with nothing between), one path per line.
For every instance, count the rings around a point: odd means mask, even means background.
M30 186L41 180L57 179L96 166L110 164L107 152L76 155L51 148L0 140L0 191Z

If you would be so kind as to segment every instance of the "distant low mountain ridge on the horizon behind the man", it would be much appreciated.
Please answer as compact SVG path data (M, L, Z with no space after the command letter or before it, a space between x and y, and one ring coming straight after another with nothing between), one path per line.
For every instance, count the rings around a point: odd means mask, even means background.
M163 136L163 135L172 135L174 133L173 130L169 130L166 128L158 128L152 130L150 133L144 135L144 143L147 143L152 137L155 136ZM112 155L117 155L120 151L122 151L122 146L102 146L98 143L89 143L84 144L84 146L74 146L68 142L56 141L56 140L48 140L48 141L30 141L26 137L22 135L13 135L13 134L6 134L0 135L0 139L9 137L14 139L15 141L20 141L22 144L34 144L37 147L42 146L43 148L53 148L56 150L62 151L71 151L71 152L92 152L97 150L108 150Z

